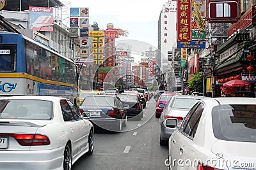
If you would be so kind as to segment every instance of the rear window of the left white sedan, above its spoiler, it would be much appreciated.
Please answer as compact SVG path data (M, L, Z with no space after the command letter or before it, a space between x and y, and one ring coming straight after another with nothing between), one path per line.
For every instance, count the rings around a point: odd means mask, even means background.
M51 120L53 103L41 100L0 100L0 119Z

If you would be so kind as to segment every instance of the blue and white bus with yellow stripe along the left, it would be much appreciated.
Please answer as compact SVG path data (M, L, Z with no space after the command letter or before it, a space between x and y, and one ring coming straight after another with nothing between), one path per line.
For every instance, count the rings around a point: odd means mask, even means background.
M78 104L78 76L75 62L48 46L0 32L0 96L61 96Z

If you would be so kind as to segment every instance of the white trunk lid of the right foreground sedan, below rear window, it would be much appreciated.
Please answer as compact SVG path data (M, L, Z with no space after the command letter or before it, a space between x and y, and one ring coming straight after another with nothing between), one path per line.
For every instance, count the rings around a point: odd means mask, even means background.
M211 151L216 155L212 159L228 162L228 169L255 169L256 143L217 140L212 145ZM220 169L226 168L220 167Z

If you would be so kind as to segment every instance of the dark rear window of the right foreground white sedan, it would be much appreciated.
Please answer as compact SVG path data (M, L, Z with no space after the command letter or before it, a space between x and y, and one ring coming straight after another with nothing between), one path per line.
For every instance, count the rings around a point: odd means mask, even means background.
M212 127L218 139L256 142L256 105L215 106L212 109Z

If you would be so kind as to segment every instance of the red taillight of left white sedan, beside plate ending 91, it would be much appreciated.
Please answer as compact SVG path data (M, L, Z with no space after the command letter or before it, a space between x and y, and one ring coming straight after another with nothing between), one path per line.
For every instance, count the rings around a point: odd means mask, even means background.
M50 140L42 134L4 134L10 136L22 146L50 145Z

